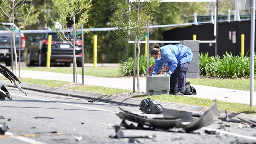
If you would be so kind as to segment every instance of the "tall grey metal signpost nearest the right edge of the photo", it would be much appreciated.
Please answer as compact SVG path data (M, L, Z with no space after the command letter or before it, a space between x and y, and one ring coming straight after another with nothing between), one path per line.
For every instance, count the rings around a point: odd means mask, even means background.
M250 24L250 107L253 106L254 91L254 37L255 37L255 0L251 0Z

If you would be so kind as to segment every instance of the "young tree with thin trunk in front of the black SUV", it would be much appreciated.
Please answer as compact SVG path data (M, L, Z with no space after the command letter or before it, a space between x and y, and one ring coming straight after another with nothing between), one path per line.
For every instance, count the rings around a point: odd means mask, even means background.
M62 41L69 41L73 47L73 65L75 68L76 83L77 66L76 66L76 30L81 28L82 24L88 23L89 9L92 7L92 0L52 0L53 9L57 12L58 17L54 22L59 22L59 28L55 28ZM76 20L76 17L79 17ZM72 20L72 31L69 30L67 20ZM70 36L72 37L70 38ZM73 42L73 43L72 43Z

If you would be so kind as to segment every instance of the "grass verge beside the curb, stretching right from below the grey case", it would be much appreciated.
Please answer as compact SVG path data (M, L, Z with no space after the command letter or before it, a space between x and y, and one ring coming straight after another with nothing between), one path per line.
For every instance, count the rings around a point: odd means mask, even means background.
M156 96L141 96L140 99L151 98L153 100L161 100L165 102L182 103L188 105L197 105L200 107L210 107L214 100L194 98L188 96L170 96L170 95L156 95ZM241 103L231 103L217 101L217 106L219 110L233 111L236 113L249 113L256 114L256 106L250 107L246 104Z

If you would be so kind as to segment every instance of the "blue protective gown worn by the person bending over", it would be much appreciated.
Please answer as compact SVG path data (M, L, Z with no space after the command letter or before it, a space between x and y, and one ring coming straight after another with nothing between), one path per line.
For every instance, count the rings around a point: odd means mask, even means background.
M153 74L157 74L160 68L165 65L170 66L169 74L173 73L178 65L192 61L193 53L187 46L182 44L169 44L161 48L162 59L156 60Z

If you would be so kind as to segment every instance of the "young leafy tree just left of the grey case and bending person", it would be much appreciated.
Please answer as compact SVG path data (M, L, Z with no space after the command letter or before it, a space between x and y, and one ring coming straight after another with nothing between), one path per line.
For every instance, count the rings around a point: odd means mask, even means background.
M111 18L111 25L117 28L114 31L117 37L123 37L132 41L135 48L138 49L137 53L137 89L140 92L139 84L139 55L141 41L145 34L147 34L147 23L152 22L153 13L152 9L159 7L161 0L132 0L127 2L126 0L111 0L116 6L117 10L113 18ZM130 35L129 35L130 34ZM136 55L134 55L136 57ZM135 70L134 70L135 73Z

